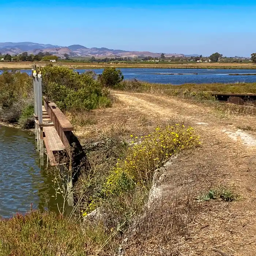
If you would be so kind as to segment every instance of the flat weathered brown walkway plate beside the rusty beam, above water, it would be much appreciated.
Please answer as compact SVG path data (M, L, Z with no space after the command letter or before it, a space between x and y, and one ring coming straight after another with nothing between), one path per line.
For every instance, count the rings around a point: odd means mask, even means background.
M50 151L62 151L65 149L60 136L58 135L56 129L53 126L44 127L43 131L45 133L45 138L47 140Z

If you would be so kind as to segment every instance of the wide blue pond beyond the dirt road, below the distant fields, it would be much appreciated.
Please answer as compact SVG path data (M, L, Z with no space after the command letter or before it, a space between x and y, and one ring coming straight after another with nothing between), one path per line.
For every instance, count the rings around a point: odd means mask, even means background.
M78 69L84 72L85 69ZM101 74L103 69L93 69ZM256 83L255 76L232 76L229 74L256 74L256 69L171 69L171 68L121 68L125 79L138 79L149 83ZM31 70L22 70L31 74ZM195 75L198 74L198 75ZM174 74L174 75L168 75ZM179 75L184 74L184 75Z

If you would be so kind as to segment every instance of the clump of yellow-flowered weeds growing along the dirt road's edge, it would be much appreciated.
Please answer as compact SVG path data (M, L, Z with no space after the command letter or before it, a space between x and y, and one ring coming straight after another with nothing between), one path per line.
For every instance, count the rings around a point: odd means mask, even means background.
M110 173L105 184L105 195L119 194L135 186L147 186L155 169L181 150L199 144L199 136L194 129L181 124L157 127L151 134L140 138L131 135L131 147Z

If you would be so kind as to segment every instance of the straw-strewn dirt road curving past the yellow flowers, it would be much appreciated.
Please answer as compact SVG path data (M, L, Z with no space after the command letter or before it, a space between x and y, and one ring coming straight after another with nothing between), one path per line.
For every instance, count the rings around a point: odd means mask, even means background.
M218 255L212 248L227 255L256 255L256 133L237 128L256 127L256 118L221 119L207 105L153 94L116 95L127 108L152 118L185 120L200 134L202 147L173 164L165 181L167 187L180 173L183 191L194 198L223 186L238 195L234 202L210 200L200 204L201 210L193 216L191 235L180 244L181 255Z

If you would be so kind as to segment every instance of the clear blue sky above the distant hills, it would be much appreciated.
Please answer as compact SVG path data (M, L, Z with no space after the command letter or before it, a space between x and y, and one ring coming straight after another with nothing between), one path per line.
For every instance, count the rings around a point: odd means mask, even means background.
M1 42L250 56L255 0L0 0Z

